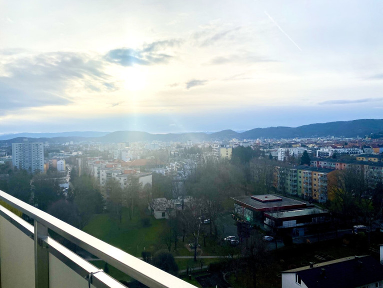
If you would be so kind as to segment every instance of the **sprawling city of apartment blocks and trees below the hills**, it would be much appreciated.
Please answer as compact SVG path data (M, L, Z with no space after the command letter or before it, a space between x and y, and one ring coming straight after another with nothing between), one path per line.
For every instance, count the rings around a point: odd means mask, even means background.
M364 121L348 132L361 132ZM194 140L168 141L129 141L142 135L126 131L121 142L107 140L114 132L8 134L0 140L0 189L185 284L322 286L362 265L340 285L379 286L383 134L371 131L256 139L221 131L199 135L214 140L186 133L181 138ZM120 283L148 285L50 236Z

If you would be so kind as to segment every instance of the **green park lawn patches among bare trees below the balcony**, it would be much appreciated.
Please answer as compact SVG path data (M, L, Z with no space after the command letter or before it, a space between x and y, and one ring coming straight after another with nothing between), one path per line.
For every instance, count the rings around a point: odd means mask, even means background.
M149 219L149 225L143 226L142 218ZM161 240L161 232L166 228L165 219L155 219L153 216L136 214L129 219L128 211L125 209L122 213L121 223L116 217L108 213L94 215L88 225L84 227L84 231L113 245L127 253L141 257L141 252L144 250L155 253L159 249L165 249L166 246ZM181 240L177 244L177 251L173 251L174 256L193 256L193 251L187 248L187 244L191 242L191 238L185 238L185 242ZM199 241L202 246L203 255L214 255L213 242L207 241L207 247L203 247L203 239ZM198 254L201 254L199 251ZM197 258L194 261L193 258L176 258L176 263L179 270L185 270L187 268L198 269L202 265L209 265L210 263L219 262L219 258L204 258L202 260ZM101 269L104 268L105 262L100 260L92 260L91 263ZM118 269L108 265L108 274L117 280L130 281L132 278ZM183 278L194 285L198 285L194 276L191 279L187 277Z

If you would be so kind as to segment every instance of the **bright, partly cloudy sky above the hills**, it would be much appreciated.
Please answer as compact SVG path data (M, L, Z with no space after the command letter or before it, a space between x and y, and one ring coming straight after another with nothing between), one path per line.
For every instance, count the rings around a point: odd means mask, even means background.
M12 0L0 134L383 118L383 1Z

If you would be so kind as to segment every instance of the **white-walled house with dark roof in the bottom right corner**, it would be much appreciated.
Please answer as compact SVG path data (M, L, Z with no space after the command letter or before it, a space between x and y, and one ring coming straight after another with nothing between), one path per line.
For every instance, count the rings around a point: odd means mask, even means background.
M376 288L383 285L383 246L375 257L352 256L282 272L282 288Z

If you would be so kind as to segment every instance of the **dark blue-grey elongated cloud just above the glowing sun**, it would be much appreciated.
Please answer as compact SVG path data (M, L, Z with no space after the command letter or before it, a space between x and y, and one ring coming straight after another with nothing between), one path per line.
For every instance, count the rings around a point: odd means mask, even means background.
M167 54L165 50L169 47L178 46L181 42L180 39L170 39L144 44L141 49L113 49L106 53L104 58L122 66L163 64L173 57Z

